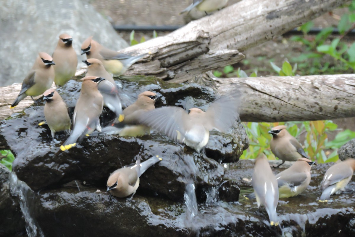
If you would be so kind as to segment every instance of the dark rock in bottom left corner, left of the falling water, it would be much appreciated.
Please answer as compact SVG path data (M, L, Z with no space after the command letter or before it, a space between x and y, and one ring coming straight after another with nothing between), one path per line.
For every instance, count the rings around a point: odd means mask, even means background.
M10 171L0 164L0 236L26 233L20 205L12 198L9 188Z

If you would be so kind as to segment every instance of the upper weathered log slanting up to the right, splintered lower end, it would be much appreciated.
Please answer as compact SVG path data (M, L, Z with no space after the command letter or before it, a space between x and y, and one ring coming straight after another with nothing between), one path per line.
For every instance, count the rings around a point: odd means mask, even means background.
M237 63L241 51L261 44L344 4L347 0L243 0L166 35L121 52L149 52L127 75L184 82Z

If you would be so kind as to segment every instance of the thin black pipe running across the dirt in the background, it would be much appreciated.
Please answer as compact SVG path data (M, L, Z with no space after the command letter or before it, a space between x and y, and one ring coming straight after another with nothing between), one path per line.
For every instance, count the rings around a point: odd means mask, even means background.
M116 31L143 31L143 32L151 32L151 31L175 31L182 26L135 26L135 25L115 25L113 28ZM311 28L307 34L318 34L322 31L321 28ZM290 31L284 33L284 35L289 34L303 34L302 31L299 31L297 28L291 29ZM332 34L340 34L337 28L333 28ZM355 35L355 30L353 29L348 33L348 35Z

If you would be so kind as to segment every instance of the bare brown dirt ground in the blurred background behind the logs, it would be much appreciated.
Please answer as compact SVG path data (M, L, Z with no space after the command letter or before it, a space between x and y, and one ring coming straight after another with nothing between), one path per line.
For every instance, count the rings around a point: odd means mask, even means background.
M229 0L228 4L235 4L240 0ZM137 25L137 26L181 26L185 24L185 15L179 15L192 0L90 0L95 9L108 18L113 25ZM347 12L347 8L335 9L313 20L314 27L336 27L340 16ZM129 42L130 32L118 32L122 38ZM157 32L162 36L169 32ZM146 40L152 38L152 33L137 32L135 38L139 41L144 36ZM258 71L258 76L275 75L270 66L272 60L276 65L282 65L283 61L291 61L292 58L304 52L305 47L301 43L289 40L290 36L275 37L272 41L265 42L254 48L242 52L246 58L243 63L233 65L235 69L240 67L249 75L253 70ZM353 43L354 38L348 37L347 42ZM327 59L326 59L327 60ZM332 59L329 59L332 60ZM347 73L353 73L348 71ZM355 118L335 119L339 128L355 131ZM335 135L335 134L334 134ZM332 135L329 139L332 139Z

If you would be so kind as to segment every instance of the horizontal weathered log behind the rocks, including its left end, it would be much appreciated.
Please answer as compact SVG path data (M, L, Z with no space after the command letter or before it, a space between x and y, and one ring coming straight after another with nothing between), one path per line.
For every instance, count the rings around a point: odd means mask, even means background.
M203 82L222 95L240 88L243 95L240 118L245 122L355 117L354 74L248 78L209 75ZM15 109L9 108L20 87L21 84L0 87L0 120L33 103L30 97L26 97Z

